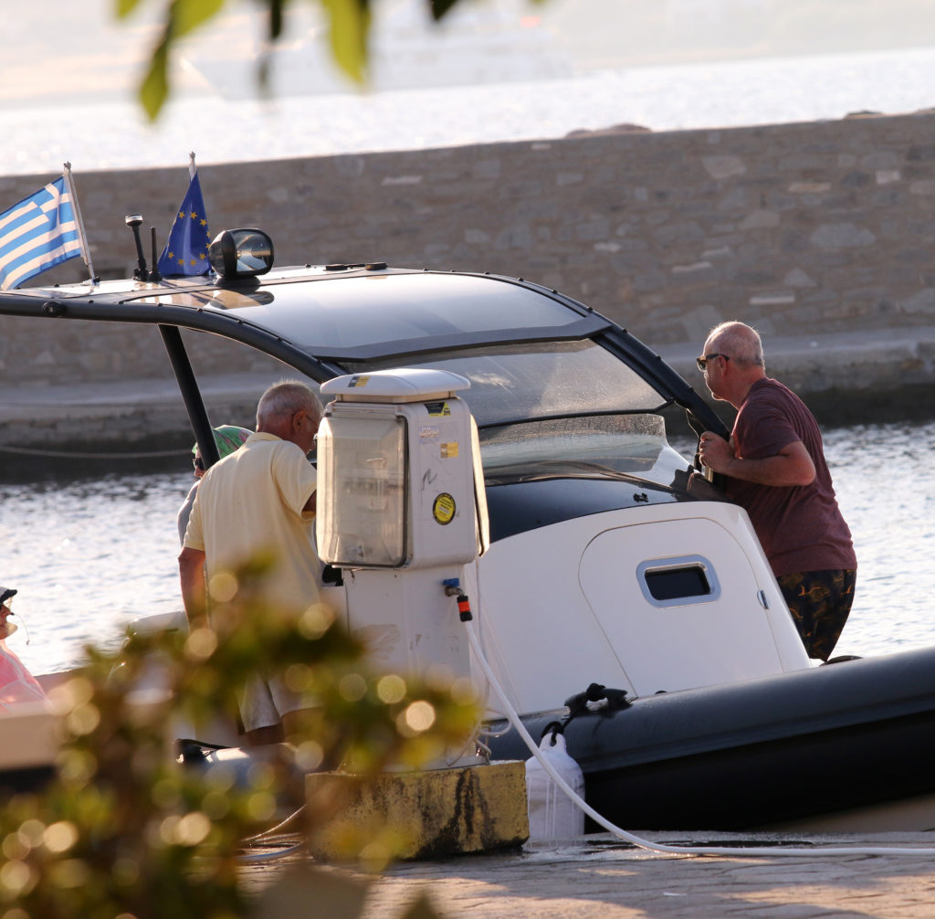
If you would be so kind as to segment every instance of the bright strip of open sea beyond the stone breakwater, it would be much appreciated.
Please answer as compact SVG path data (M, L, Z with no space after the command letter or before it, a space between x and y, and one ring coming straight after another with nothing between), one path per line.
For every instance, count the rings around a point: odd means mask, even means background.
M778 124L935 106L935 48L618 67L562 79L271 101L174 99L156 124L131 100L3 106L0 175L275 160L561 138L577 128L654 131ZM182 180L184 181L184 180ZM209 173L202 174L206 201ZM182 186L183 187L183 186ZM2 202L0 202L2 203ZM13 203L13 202L10 202Z

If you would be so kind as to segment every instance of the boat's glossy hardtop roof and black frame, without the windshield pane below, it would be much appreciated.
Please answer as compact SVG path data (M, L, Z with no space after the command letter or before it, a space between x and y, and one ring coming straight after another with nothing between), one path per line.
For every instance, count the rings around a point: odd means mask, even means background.
M180 328L220 335L281 360L318 383L354 365L492 345L601 344L697 431L723 423L678 373L589 307L522 279L469 272L310 266L235 281L138 280L0 292L0 315L157 326L202 456L217 451Z

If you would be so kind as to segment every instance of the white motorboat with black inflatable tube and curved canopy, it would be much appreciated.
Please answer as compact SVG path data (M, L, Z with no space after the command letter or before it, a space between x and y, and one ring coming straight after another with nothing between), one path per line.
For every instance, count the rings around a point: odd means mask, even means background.
M208 276L155 278L142 264L134 279L0 293L0 315L31 317L37 333L71 320L158 328L209 464L196 336L275 358L323 400L329 381L400 368L467 381L485 522L461 589L506 701L537 737L559 723L594 808L642 828L848 815L935 826L935 649L808 659L746 513L669 445L667 425L684 419L698 436L724 423L650 347L521 278L274 269L266 234L218 240ZM341 571L329 600L359 632L354 565ZM403 614L387 605L389 620ZM497 730L501 703L487 705L491 755L525 758L515 732Z

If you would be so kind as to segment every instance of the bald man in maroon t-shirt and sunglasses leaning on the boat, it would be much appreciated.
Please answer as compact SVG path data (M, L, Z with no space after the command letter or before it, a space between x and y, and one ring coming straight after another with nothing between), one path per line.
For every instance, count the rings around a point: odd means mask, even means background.
M857 561L831 485L821 432L798 396L766 375L755 329L712 328L698 369L738 410L730 442L701 435L701 461L745 508L810 657L827 661L854 600Z

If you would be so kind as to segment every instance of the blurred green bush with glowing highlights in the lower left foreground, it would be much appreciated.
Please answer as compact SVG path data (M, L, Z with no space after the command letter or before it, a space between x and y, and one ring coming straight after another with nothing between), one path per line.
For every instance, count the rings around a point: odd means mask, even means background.
M370 671L327 607L290 615L263 605L263 572L257 564L212 582L224 599L212 627L136 635L116 653L89 649L88 664L50 694L63 734L56 776L0 799L0 919L248 915L242 840L276 822L290 791L304 799L302 769L344 754L366 780L463 748L478 717L466 685ZM313 703L294 745L266 748L281 755L242 775L181 766L174 713L196 729L219 707L233 716L238 689L268 661ZM336 807L318 802L307 825Z

